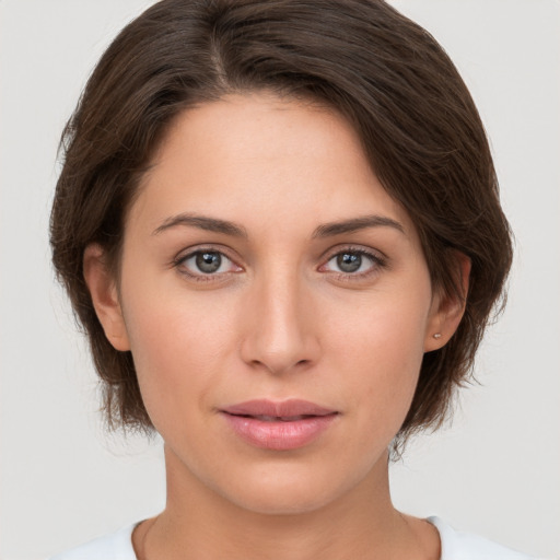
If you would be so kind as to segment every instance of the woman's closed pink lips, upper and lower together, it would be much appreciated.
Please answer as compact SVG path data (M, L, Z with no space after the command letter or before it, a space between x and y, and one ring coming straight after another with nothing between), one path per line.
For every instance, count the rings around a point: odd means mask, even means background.
M336 410L298 399L248 400L221 412L245 442L275 451L296 450L312 443L338 416Z

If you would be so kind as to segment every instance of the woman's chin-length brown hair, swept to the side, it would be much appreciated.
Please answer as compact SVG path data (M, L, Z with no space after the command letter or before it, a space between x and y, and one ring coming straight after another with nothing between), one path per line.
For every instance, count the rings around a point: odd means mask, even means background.
M62 135L50 240L109 423L151 428L132 357L110 346L95 315L84 249L101 244L117 270L126 210L173 118L256 90L311 97L349 119L415 222L434 287L463 296L454 259L457 250L470 258L464 318L444 348L424 355L399 436L439 425L503 295L510 231L467 88L434 38L380 0L163 0L98 62Z

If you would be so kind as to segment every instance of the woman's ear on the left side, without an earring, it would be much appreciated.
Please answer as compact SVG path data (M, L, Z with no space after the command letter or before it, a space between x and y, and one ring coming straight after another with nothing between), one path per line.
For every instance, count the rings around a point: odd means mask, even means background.
M130 350L116 281L106 266L105 253L97 244L88 245L84 250L83 276L107 340L116 350Z

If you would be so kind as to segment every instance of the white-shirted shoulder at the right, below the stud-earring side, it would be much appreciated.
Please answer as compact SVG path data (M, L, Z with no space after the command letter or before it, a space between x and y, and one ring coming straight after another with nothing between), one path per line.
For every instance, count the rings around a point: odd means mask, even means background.
M537 560L483 537L453 529L439 517L428 517L440 533L441 560Z

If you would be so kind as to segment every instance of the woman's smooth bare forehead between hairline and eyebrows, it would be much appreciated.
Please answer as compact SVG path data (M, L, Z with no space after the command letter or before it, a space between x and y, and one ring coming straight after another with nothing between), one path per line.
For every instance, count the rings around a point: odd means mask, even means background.
M231 95L175 119L131 218L156 228L177 212L283 228L383 213L412 228L341 115L265 93Z

